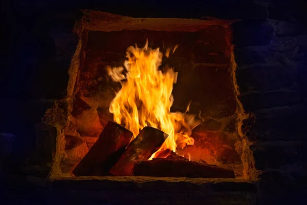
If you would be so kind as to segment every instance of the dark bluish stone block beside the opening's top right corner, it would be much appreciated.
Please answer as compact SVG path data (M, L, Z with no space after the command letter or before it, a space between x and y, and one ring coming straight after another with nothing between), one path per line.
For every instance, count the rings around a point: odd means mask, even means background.
M233 24L233 44L236 46L265 46L272 40L273 26L259 21Z

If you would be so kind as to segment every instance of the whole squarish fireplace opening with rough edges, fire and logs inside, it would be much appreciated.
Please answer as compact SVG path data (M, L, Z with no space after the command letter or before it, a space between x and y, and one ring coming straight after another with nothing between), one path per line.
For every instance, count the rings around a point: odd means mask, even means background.
M75 26L80 40L69 70L68 96L44 117L57 129L51 178L248 178L231 23L85 13ZM156 59L144 63L139 54ZM156 100L148 98L152 93L138 98L151 89L144 81L133 81L119 97L129 82L127 75L142 78L143 67L133 73L133 65L153 66L160 74ZM132 103L129 96L136 96ZM164 105L159 104L163 100ZM144 110L148 101L158 103ZM167 117L162 111L153 114L157 108L168 110ZM163 127L166 119L176 121L176 128Z

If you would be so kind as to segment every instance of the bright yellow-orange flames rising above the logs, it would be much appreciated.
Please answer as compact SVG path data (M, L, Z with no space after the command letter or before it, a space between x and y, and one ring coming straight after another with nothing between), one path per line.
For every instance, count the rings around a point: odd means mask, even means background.
M169 52L168 49L166 57ZM109 107L114 121L133 132L133 138L145 126L162 130L169 136L159 151L168 148L176 152L177 147L193 145L191 130L200 120L194 120L195 115L170 112L177 72L173 68L159 69L163 54L159 48L149 48L148 41L143 48L130 46L126 54L124 67L107 68L108 75L122 85Z

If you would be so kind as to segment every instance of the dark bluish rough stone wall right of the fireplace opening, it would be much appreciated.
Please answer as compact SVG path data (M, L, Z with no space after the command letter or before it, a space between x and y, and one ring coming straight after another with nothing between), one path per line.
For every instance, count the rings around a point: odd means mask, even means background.
M234 23L242 131L255 160L259 204L304 204L306 26L302 1L254 1L270 19ZM298 3L300 2L300 3ZM260 175L258 175L260 173Z

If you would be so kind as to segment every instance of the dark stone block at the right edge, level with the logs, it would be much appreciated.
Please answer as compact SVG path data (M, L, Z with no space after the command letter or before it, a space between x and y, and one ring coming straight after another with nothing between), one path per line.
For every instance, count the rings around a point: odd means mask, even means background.
M258 141L250 146L258 170L278 169L281 166L306 161L306 141Z

